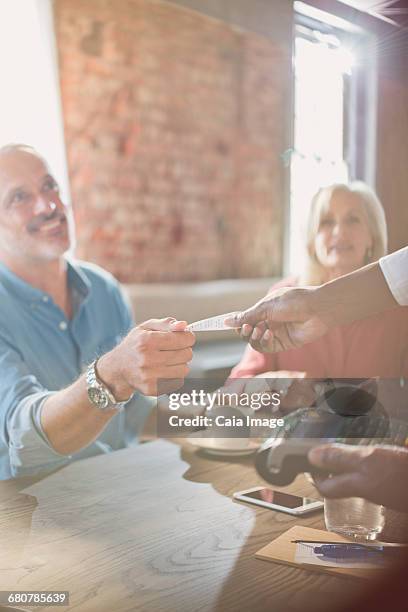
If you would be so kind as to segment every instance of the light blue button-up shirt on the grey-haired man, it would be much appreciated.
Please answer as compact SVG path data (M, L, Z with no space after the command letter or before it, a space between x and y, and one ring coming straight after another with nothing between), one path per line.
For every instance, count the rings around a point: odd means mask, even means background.
M92 264L68 262L74 316L0 264L0 479L54 469L137 441L151 400L136 395L98 439L68 457L41 427L46 398L73 383L132 326L118 282Z

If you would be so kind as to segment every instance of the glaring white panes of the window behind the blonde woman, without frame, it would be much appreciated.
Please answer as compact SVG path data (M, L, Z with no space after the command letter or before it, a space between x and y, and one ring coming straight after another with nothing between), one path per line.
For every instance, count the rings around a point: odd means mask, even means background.
M354 63L350 50L333 40L295 39L294 152L291 158L289 269L304 262L305 228L316 191L347 182L344 160L344 75ZM336 42L337 41L337 42Z

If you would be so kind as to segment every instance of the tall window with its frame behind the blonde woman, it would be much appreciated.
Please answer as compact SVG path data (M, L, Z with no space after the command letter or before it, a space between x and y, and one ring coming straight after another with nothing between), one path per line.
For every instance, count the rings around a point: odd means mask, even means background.
M295 29L291 273L299 273L304 264L306 222L316 191L334 182L372 180L372 115L367 108L372 72L366 63L370 40L352 24L350 29L301 17Z

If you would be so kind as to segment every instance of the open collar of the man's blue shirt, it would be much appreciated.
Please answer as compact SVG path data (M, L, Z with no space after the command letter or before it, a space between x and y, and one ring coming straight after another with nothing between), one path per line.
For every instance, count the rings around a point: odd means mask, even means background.
M80 295L81 301L84 301L89 295L91 284L77 264L70 259L67 259L67 264L69 287ZM0 283L22 301L37 302L49 297L48 293L27 283L2 262L0 262Z

